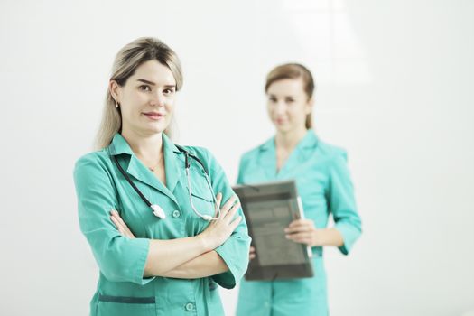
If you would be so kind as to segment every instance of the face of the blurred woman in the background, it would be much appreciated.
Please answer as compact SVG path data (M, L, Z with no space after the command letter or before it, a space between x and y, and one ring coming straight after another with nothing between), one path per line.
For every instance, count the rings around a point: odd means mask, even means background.
M302 79L274 81L266 91L268 116L277 131L287 133L305 129L306 116L311 113L312 99L303 89Z

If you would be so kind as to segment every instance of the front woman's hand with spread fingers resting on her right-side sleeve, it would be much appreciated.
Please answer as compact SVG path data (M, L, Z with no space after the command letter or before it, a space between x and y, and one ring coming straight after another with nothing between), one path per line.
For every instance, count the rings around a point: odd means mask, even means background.
M217 205L220 206L222 201L222 193L218 193L216 196ZM233 196L227 200L226 204L220 209L220 218L212 220L209 226L200 233L200 237L204 241L205 247L210 251L214 250L218 246L224 244L228 237L236 230L238 223L242 220L242 217L234 216L237 213L237 209L240 207L240 202L234 204L237 200L237 196Z

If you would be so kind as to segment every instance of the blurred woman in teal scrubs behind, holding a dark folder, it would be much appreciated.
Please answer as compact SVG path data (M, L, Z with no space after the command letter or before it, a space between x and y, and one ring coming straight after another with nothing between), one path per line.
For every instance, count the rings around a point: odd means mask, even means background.
M361 233L346 152L322 142L311 129L314 82L300 64L285 64L266 79L268 115L276 135L245 153L239 184L294 179L305 219L285 228L286 237L312 248L314 276L281 281L242 281L237 315L328 315L324 246L349 254ZM327 228L332 214L335 226ZM258 256L251 247L250 259Z

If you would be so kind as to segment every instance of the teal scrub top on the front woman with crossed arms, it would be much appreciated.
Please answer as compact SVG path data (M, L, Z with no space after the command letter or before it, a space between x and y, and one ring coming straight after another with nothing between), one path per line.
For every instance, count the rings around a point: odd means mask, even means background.
M212 188L222 192L223 201L235 193L216 159L206 149L184 147L195 154L209 172ZM242 220L216 252L228 265L228 272L200 279L144 278L150 239L174 239L200 234L209 222L191 209L184 154L163 134L166 186L135 156L122 135L116 134L105 149L88 153L76 163L74 181L79 201L79 224L98 263L97 292L90 302L92 316L120 315L223 315L218 285L230 289L241 279L248 264L246 222ZM153 215L112 156L152 204L164 210L165 219ZM191 158L192 201L201 214L213 215L212 192L204 171ZM135 234L122 237L110 210L120 216ZM244 216L242 210L238 215Z

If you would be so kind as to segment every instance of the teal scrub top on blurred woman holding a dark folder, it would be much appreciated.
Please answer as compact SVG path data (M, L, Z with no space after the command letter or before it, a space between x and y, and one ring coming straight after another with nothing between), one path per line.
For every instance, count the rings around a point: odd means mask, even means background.
M361 234L346 152L325 144L310 129L276 172L274 138L250 152L240 161L237 182L293 179L302 198L305 218L316 228L326 228L330 213L335 228L344 238L339 250L349 254ZM256 249L258 256L258 249ZM240 283L237 315L328 315L326 273L322 247L312 247L314 276L284 281L245 281Z

